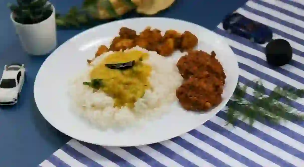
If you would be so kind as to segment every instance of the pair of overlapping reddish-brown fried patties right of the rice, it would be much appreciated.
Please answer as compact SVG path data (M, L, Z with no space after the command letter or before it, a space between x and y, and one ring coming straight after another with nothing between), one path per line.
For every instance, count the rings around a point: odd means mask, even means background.
M186 110L208 110L221 103L226 75L215 56L214 51L208 54L195 50L178 61L185 81L176 90L176 96Z

